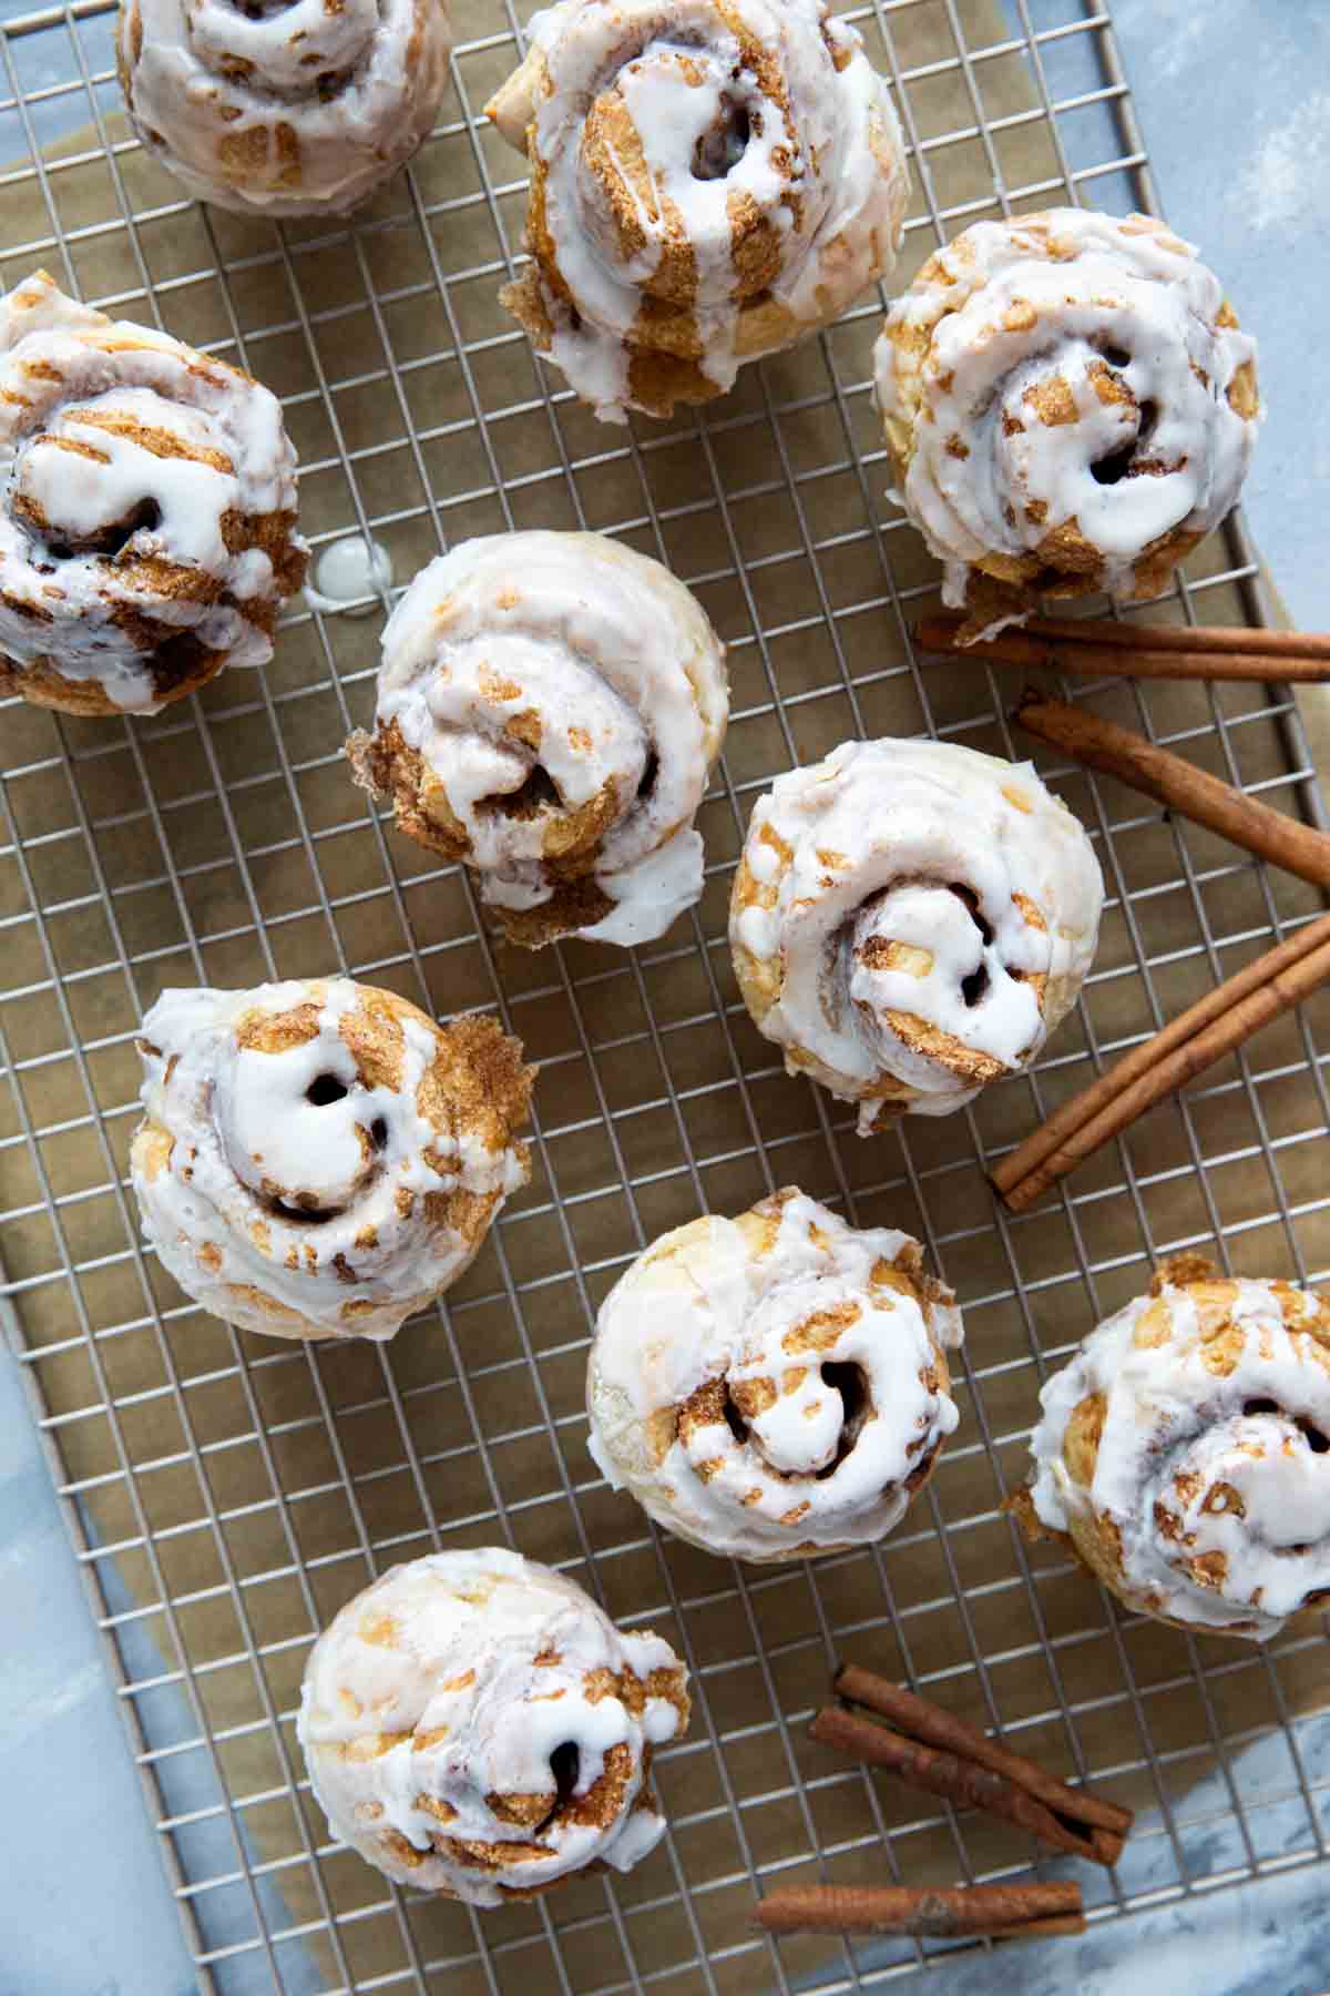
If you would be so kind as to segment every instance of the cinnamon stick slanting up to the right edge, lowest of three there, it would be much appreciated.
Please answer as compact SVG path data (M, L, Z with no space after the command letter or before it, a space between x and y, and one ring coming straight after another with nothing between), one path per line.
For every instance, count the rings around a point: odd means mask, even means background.
M1238 1046L1272 1024L1292 1006L1302 1004L1322 984L1330 984L1330 916L1312 922L1302 936L1282 942L1256 964L1220 984L1182 1012L1172 1026L1135 1048L1093 1088L1087 1088L1073 1102L1065 1104L1057 1118L1057 1132L1051 1148L1045 1148L1045 1132L1037 1130L1029 1140L1031 1158L1021 1158L1027 1150L1013 1152L993 1174L1003 1204L1021 1214L1027 1206L1055 1186L1059 1178L1073 1172L1097 1150L1121 1136L1147 1110L1153 1110L1164 1096L1176 1094L1196 1074L1204 1074L1216 1060L1224 1060ZM1296 950L1308 938L1308 948ZM1312 946L1314 944L1314 946ZM1256 972L1262 972L1260 980ZM1238 992L1242 992L1238 996ZM1198 1022L1194 1028L1188 1022ZM1164 1046L1161 1048L1161 1042ZM1051 1126L1045 1126L1051 1128ZM1021 1176L1015 1176L1017 1170Z

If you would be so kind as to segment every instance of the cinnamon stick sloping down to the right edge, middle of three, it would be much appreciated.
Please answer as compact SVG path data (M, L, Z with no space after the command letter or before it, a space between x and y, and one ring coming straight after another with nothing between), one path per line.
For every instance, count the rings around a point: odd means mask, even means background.
M1153 796L1168 810L1180 810L1196 824L1232 838L1258 858L1282 866L1284 872L1310 880L1312 886L1330 888L1330 836L1298 824L1296 818L1270 810L1230 782L1210 776L1168 748L1157 748L1143 735L1121 729L1115 721L1101 721L1081 707L1065 701L1047 701L1031 693L1015 711L1017 723L1027 735L1039 737L1053 748L1087 762L1091 768L1117 776L1145 796Z

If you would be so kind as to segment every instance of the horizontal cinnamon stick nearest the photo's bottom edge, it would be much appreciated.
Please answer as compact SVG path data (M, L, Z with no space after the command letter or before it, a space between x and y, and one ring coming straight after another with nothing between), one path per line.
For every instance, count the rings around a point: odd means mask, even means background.
M792 1884L758 1904L768 1934L915 1934L993 1940L1083 1934L1079 1884L837 1886Z

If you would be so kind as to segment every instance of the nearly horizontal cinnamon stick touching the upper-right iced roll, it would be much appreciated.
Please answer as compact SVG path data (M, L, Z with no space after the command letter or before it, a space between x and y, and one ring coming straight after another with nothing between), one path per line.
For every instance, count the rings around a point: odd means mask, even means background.
M963 615L925 617L919 651L1087 677L1232 679L1316 685L1330 679L1330 635L1262 631L1240 625L1133 625L1043 617L1019 631L961 643Z

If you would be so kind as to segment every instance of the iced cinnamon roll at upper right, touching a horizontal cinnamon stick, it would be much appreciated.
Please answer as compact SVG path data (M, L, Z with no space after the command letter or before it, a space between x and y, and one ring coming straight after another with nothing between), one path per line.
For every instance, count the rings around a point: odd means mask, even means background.
M979 222L877 341L897 499L973 637L1041 597L1159 595L1236 505L1256 347L1161 222Z

